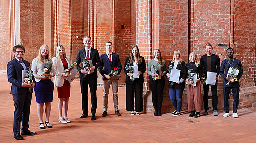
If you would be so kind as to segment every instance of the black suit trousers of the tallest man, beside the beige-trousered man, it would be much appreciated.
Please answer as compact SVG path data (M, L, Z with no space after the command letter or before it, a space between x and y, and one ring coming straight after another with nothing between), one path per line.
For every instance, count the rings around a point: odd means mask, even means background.
M97 109L97 78L86 77L84 79L80 79L82 93L82 111L84 114L88 113L88 84L91 93L91 112L92 115L95 115Z

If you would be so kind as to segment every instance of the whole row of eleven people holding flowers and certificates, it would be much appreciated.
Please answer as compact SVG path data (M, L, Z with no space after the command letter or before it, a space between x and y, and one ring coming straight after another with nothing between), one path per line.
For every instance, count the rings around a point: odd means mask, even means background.
M84 48L78 51L76 58L76 68L79 71L80 86L82 93L82 115L80 118L88 116L88 85L90 88L91 95L91 120L96 120L96 109L97 109L97 68L102 75L103 80L103 114L105 117L108 115L108 94L110 85L112 86L113 102L115 108L115 114L121 116L118 109L118 77L113 75L119 75L122 70L122 65L119 59L119 55L112 52L112 43L106 42L105 48L106 53L99 56L99 52L91 47L91 37L86 36L83 38ZM172 69L180 70L179 80L177 82L169 81L169 95L174 106L174 111L171 113L173 116L179 116L181 105L182 105L182 94L186 86L185 82L189 82L186 79L188 70L191 73L197 73L196 86L187 86L187 99L188 99L188 111L191 112L189 117L199 117L201 111L201 84L203 81L203 73L207 71L216 72L216 84L211 85L212 90L212 106L214 108L214 115L217 113L217 81L218 75L224 78L223 93L224 93L224 108L225 114L223 117L229 116L228 113L228 97L230 90L233 91L234 96L234 108L233 117L238 117L236 112L238 109L239 99L239 82L243 74L242 64L238 59L233 58L234 51L232 48L227 49L228 59L224 60L220 66L219 56L212 54L212 45L206 44L206 55L203 55L200 59L200 64L197 61L197 54L191 52L189 54L189 63L185 64L181 58L181 52L175 50L173 53L173 59L169 62L166 67L165 60L162 59L161 51L154 49L153 59L148 62L146 69L146 62L144 57L140 55L139 47L137 45L132 46L130 55L126 58L124 63L124 73L126 74L126 110L131 112L131 115L140 115L143 111L143 83L144 73L150 75L149 84L152 91L152 102L155 109L154 115L161 116L161 107L163 101L163 90L165 85L165 75L167 78L172 77ZM39 118L39 128L45 129L43 121L44 105L45 105L45 124L46 127L52 128L49 123L51 102L53 100L54 86L57 87L58 92L58 109L59 118L58 121L61 123L69 123L70 120L67 117L69 97L70 97L70 86L71 82L67 80L67 73L65 69L71 66L70 58L66 56L65 48L59 45L56 49L56 57L49 60L49 47L42 45L39 49L38 56L33 59L32 66L30 63L23 59L25 48L22 45L16 45L13 47L15 58L7 64L8 81L12 83L11 94L13 94L14 100L14 124L13 132L15 139L23 139L20 135L20 122L22 122L22 135L35 135L36 132L28 130L28 121L31 104L31 94L35 91L36 102L37 102L37 114ZM84 59L91 60L92 66L86 68L83 65ZM50 61L52 66L51 74L45 76L44 66ZM49 64L49 62L48 62ZM133 68L136 66L136 72ZM237 80L230 81L230 77L227 76L227 72L230 67L237 67L239 70ZM202 70L203 69L203 70ZM23 81L22 70L32 70L32 82ZM113 74L114 73L114 74ZM135 77L134 77L135 76ZM54 82L53 79L54 78ZM209 112L208 107L208 91L209 85L203 84L204 88L204 115ZM135 99L135 100L134 100Z

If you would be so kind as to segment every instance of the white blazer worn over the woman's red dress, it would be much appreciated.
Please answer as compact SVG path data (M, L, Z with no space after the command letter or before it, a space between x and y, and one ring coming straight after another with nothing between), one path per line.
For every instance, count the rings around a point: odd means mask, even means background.
M65 58L68 65L70 66L70 63L67 59L69 59L69 57ZM64 76L62 76L62 74L64 73L64 66L62 61L58 62L58 59L56 57L52 58L52 64L53 67L55 69L55 79L54 79L54 86L58 86L61 87L64 85ZM71 85L71 82L69 82L69 84Z

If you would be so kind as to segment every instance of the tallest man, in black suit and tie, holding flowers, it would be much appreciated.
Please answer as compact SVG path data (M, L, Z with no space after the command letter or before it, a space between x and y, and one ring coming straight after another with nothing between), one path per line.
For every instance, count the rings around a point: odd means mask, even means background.
M79 71L80 75L80 85L82 93L82 111L83 114L80 118L85 118L88 116L88 84L91 92L91 103L92 103L92 117L91 120L96 120L96 108L97 108L97 68L100 66L99 52L97 49L91 47L91 37L85 36L83 38L84 48L79 50L76 57L76 68ZM92 67L85 70L83 61L85 58L92 60ZM97 63L97 64L96 64ZM81 64L81 65L80 65ZM87 74L87 71L90 71L90 74Z

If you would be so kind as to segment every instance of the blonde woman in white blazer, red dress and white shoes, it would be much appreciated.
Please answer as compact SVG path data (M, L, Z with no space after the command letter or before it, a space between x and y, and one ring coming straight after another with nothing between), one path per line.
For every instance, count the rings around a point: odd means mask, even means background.
M65 49L62 45L59 45L56 50L56 57L52 58L53 67L55 69L54 86L57 86L58 98L59 98L59 122L69 123L67 117L69 97L70 97L70 85L71 82L66 80L67 73L65 69L70 66L69 57L66 57ZM64 106L63 116L62 107Z

